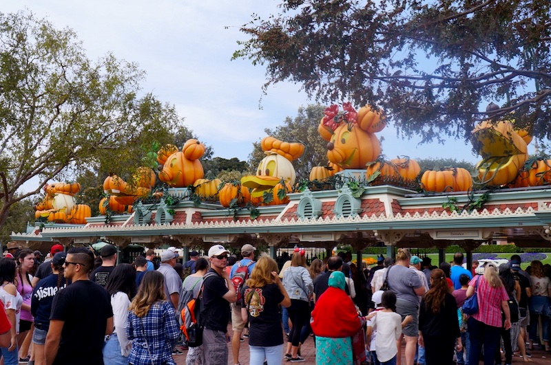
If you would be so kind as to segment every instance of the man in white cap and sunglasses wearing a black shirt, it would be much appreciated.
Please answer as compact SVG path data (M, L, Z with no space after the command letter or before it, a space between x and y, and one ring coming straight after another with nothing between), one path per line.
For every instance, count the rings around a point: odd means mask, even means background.
M225 270L228 250L222 245L209 249L211 269L203 278L200 318L205 320L202 333L203 359L206 365L228 363L226 332L229 322L229 303L237 300L229 275Z

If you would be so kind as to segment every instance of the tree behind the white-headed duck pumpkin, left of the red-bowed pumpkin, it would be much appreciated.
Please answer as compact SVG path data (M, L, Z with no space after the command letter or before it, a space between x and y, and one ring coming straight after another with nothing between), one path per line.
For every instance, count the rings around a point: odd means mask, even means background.
M308 105L300 107L298 115L293 119L287 117L282 126L274 130L264 129L267 135L278 138L284 142L302 142L306 146L304 154L293 161L297 179L308 179L313 166L325 166L327 164L327 142L318 133L318 124L323 117L325 107L322 105ZM260 147L260 141L253 143L253 152L249 155L249 166L256 171L260 161L266 157Z

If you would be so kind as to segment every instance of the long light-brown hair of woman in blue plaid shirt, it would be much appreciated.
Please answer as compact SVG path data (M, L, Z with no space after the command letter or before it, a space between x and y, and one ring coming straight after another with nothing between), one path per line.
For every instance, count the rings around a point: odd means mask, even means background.
M129 310L139 318L147 316L149 308L156 302L167 300L165 294L165 277L160 272L146 272L143 276L138 294L130 303Z

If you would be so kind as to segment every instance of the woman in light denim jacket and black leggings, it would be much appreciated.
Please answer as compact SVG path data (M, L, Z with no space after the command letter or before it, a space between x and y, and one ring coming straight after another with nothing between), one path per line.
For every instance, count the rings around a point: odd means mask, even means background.
M304 249L293 254L291 266L283 276L283 286L291 298L291 307L287 311L293 324L293 328L289 332L291 352L287 352L285 357L291 362L304 362L304 358L298 355L298 345L300 344L300 331L310 318L309 302L313 293L313 281L306 269ZM289 345L287 349L289 349Z

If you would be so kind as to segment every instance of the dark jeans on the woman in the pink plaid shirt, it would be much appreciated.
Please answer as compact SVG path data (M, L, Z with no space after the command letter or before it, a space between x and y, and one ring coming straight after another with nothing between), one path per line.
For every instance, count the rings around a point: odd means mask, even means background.
M478 364L484 346L484 365L494 365L494 355L499 341L499 327L488 326L475 318L467 320L470 348L469 364Z

